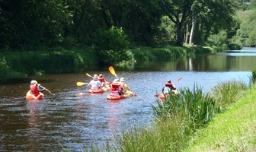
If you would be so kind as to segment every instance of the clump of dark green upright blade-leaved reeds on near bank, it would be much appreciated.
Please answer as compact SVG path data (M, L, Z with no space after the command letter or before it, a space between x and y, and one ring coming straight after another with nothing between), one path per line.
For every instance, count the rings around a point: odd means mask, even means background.
M168 96L163 103L154 107L156 119L165 121L169 117L185 117L190 122L190 127L198 128L213 119L216 112L215 101L209 94L204 95L202 88L194 90L182 89L178 96Z

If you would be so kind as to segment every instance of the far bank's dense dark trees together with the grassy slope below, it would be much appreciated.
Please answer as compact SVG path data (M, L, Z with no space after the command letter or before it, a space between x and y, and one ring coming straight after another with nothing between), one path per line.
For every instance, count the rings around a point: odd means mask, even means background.
M0 78L256 46L255 24L256 0L0 0Z

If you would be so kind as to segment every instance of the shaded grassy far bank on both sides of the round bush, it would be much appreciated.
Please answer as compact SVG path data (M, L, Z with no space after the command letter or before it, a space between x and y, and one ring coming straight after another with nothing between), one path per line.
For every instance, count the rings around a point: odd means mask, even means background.
M218 48L202 46L136 47L126 50L126 61L117 66L136 62L168 61L186 58L196 53L216 52ZM165 56L165 58L163 58ZM30 75L59 74L86 71L94 67L109 65L99 62L94 49L53 49L44 51L0 52L0 78L18 78Z

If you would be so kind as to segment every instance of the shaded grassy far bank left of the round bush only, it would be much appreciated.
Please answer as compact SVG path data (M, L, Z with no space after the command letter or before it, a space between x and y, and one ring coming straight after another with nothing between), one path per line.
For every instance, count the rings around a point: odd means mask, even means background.
M6 78L25 75L41 75L84 71L95 62L91 52L85 51L44 51L1 53L0 74ZM3 77L2 77L3 78Z

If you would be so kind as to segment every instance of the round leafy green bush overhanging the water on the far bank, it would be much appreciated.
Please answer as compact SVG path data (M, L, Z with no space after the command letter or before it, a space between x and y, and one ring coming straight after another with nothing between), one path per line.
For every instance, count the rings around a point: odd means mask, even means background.
M122 28L111 27L109 30L98 30L93 37L92 43L98 52L100 62L114 65L128 58L126 48L129 41Z

